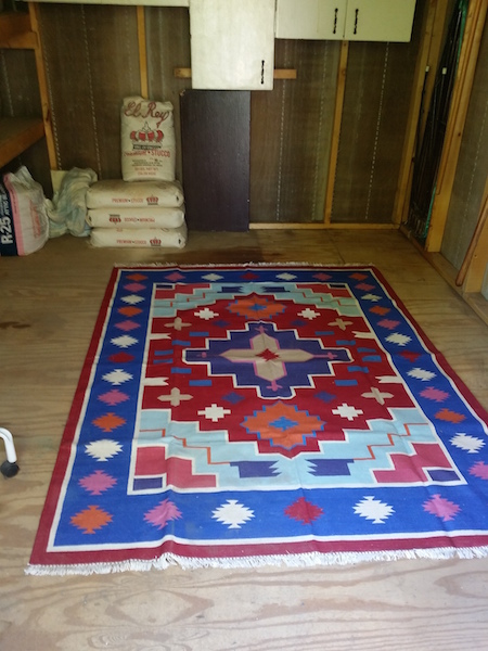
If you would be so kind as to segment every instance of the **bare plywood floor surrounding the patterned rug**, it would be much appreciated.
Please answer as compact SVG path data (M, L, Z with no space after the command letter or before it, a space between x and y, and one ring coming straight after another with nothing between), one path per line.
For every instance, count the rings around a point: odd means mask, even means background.
M488 328L396 231L192 233L169 254L64 237L1 258L0 426L14 433L21 472L0 478L0 649L488 649L488 559L24 575L112 267L146 261L373 263L488 408Z

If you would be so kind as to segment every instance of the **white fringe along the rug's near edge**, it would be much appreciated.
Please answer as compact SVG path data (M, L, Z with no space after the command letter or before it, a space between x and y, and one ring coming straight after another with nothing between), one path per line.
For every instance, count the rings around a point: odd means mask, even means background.
M465 548L433 548L408 549L372 552L337 552L337 553L299 553L261 557L232 558L188 558L175 553L165 553L149 561L127 560L115 563L84 563L69 565L36 565L29 564L25 574L31 576L89 576L91 574L112 574L117 572L149 572L151 570L167 570L179 566L182 570L254 570L264 566L313 567L317 565L356 565L367 562L431 560L444 561L450 559L484 559L488 558L488 546Z

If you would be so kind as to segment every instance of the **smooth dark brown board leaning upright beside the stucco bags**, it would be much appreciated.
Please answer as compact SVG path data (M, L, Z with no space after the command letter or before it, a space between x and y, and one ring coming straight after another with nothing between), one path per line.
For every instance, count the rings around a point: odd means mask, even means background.
M251 91L183 91L181 136L189 228L248 230Z

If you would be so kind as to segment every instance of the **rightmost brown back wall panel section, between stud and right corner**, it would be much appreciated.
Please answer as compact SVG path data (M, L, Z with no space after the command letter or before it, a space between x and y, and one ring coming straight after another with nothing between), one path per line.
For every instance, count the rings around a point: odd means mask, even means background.
M350 42L332 224L391 225L415 64L408 43Z

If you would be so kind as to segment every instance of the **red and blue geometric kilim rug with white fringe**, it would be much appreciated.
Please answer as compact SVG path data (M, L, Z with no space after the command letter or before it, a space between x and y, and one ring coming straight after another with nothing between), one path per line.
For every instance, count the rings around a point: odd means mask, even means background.
M27 572L485 556L486 422L374 268L115 269Z

